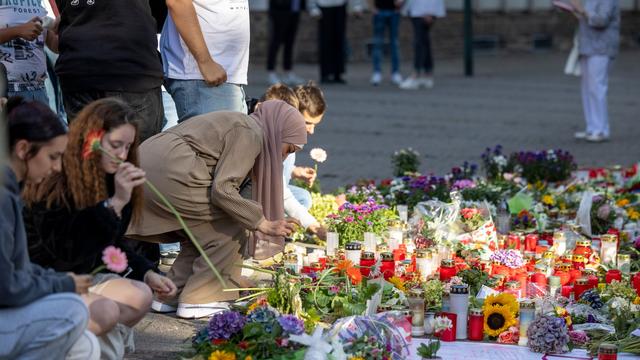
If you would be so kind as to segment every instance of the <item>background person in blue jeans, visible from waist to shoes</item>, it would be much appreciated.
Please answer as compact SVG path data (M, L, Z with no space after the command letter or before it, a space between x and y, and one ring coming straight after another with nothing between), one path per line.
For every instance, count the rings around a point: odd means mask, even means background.
M382 81L382 57L384 30L389 29L389 48L391 52L391 82L400 85L400 47L398 45L398 26L403 0L374 0L373 10L373 74L371 85L378 86Z

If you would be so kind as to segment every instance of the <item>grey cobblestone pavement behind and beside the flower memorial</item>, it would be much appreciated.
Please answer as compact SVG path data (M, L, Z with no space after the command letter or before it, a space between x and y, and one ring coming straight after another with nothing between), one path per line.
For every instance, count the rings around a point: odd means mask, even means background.
M298 157L311 165L309 150L322 147L319 167L325 191L360 178L391 175L390 155L413 147L422 154L423 173L444 174L465 160L478 162L487 146L506 151L563 148L579 165L628 165L640 160L640 51L615 62L610 80L612 138L602 144L573 139L584 120L577 78L562 74L565 54L481 55L476 76L462 76L460 59L439 60L436 86L401 91L386 83L369 85L370 65L349 67L348 85L324 87L328 111ZM409 69L405 64L404 69ZM301 65L299 75L315 79L317 67ZM252 64L247 94L267 87L263 64ZM137 351L127 359L177 359L204 321L149 314L138 326Z

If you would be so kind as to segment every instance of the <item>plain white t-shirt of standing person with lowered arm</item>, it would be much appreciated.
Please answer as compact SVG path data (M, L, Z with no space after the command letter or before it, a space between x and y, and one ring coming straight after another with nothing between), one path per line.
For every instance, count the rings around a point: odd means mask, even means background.
M246 85L250 39L248 0L193 0L193 5L209 54L227 72L227 82ZM202 80L198 64L171 16L162 29L160 52L165 77Z

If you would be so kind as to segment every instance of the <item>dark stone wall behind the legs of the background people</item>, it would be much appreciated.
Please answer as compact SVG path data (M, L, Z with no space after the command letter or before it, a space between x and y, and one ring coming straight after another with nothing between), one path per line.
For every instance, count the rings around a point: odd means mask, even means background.
M504 0L494 0L504 4ZM511 0L509 0L511 1ZM525 1L525 0L523 0ZM526 1L525 1L526 2ZM640 3L640 1L638 1ZM485 7L493 3L484 3ZM514 3L511 3L512 5ZM631 4L631 3L630 3ZM571 47L576 20L558 11L475 11L474 38L477 53L479 47L497 44L502 49L513 51L533 51L534 42L542 47L551 45L553 49L566 50ZM351 16L347 24L350 49L349 59L353 62L368 60L368 45L372 37L371 14L361 18ZM264 11L251 12L251 58L261 62L266 58L268 42L268 21ZM432 31L433 50L436 57L461 56L463 51L463 13L449 10L446 18L439 19ZM412 56L412 29L408 19L400 25L400 47L402 59ZM640 11L625 11L622 15L622 47L640 47ZM548 44L551 40L552 43ZM304 13L296 42L296 61L314 63L317 61L317 21Z

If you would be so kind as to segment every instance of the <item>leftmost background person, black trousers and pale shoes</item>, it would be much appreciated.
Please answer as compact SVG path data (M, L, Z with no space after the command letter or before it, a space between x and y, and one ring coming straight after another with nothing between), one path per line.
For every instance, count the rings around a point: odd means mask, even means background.
M269 0L269 54L267 57L267 71L269 84L284 82L288 85L298 85L303 82L293 73L293 45L298 33L300 11L304 9L305 0ZM278 49L284 45L282 67L285 72L283 78L276 73Z

